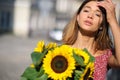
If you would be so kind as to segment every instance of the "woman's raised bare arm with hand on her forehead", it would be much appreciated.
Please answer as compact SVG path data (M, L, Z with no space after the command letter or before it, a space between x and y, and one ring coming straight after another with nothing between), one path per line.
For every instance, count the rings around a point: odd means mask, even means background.
M114 39L115 56L110 57L109 64L112 67L120 67L120 26L116 19L115 4L112 0L104 0L98 2L98 5L106 9L107 20L110 24Z

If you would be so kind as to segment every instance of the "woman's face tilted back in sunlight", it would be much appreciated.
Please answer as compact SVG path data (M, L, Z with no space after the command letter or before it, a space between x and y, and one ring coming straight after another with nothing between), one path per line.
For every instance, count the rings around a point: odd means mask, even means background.
M77 21L82 30L96 32L102 22L102 12L97 2L88 2L78 14Z

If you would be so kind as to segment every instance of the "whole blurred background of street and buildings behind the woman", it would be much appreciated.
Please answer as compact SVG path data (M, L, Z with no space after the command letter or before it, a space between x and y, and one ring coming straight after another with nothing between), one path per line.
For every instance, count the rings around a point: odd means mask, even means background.
M20 80L39 40L61 43L62 30L83 0L0 0L0 80ZM120 0L113 0L120 23ZM111 69L107 80L120 80Z

